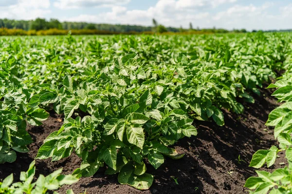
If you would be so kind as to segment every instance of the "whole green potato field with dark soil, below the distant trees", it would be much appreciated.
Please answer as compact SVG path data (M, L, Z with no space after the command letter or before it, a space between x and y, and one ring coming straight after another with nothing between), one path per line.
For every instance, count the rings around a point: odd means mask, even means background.
M292 33L0 37L0 194L292 193Z

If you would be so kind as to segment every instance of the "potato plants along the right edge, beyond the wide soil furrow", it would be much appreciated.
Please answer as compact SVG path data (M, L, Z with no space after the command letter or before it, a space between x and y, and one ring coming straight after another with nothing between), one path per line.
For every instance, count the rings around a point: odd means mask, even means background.
M267 126L274 127L274 138L278 145L269 150L260 149L253 155L250 166L260 168L264 164L271 167L276 162L280 152L285 153L288 165L284 168L276 168L273 172L256 171L258 177L250 177L246 180L245 187L251 194L288 194L292 193L292 55L289 55L283 63L286 72L280 80L270 84L269 88L276 88L273 97L281 103L270 114ZM286 163L286 162L285 162Z

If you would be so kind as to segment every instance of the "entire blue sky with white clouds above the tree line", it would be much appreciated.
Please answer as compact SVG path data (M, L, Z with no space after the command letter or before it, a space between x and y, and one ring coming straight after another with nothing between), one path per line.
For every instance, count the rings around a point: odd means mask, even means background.
M0 0L0 18L247 30L292 29L292 0Z

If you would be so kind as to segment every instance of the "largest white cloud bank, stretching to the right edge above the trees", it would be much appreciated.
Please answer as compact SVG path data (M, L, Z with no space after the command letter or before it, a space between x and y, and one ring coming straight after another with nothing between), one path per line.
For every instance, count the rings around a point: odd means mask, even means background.
M227 5L223 11L219 6ZM237 3L237 0L159 0L146 10L128 10L113 6L111 11L97 15L79 15L63 18L68 21L93 23L152 25L152 18L165 26L200 28L242 29L289 29L292 20L292 3L284 7L266 1L261 5ZM222 6L223 7L223 6ZM222 9L221 9L222 10ZM273 13L273 14L272 14Z

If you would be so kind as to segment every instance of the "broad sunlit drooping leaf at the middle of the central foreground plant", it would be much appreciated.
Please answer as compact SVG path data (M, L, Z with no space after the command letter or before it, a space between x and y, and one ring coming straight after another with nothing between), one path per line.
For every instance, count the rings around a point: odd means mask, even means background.
M139 124L130 125L127 127L127 138L130 144L143 149L145 136L143 128Z

